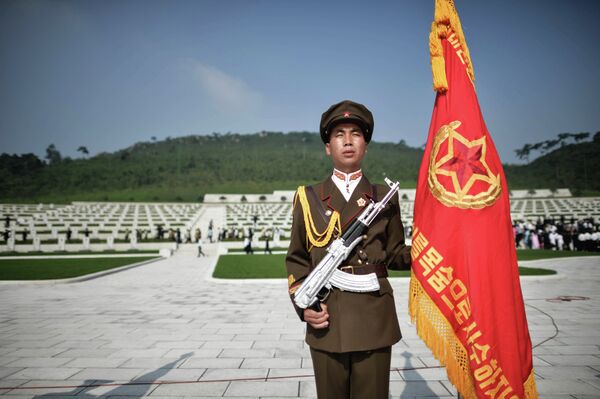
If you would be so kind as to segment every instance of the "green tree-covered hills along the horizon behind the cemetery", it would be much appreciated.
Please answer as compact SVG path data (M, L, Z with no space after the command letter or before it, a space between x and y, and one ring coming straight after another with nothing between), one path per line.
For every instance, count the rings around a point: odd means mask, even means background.
M511 189L600 191L599 154L596 135L505 170ZM414 187L422 155L403 142L371 142L364 168L375 182L387 175ZM206 193L292 190L322 180L331 169L319 135L309 132L167 138L79 159L63 158L51 145L46 160L0 155L0 201L199 201Z

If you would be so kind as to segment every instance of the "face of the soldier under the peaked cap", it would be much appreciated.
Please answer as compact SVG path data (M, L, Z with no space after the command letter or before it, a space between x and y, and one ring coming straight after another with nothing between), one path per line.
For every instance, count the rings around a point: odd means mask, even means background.
M354 123L341 123L329 134L325 152L333 160L333 166L345 173L360 169L367 152L367 142L360 127Z

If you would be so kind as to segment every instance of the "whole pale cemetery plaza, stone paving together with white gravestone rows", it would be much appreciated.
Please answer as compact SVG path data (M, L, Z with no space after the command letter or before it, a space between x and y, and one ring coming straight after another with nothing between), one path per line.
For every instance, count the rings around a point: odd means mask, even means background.
M600 218L600 199L547 191L513 193L513 219ZM400 195L410 225L414 190ZM292 198L293 192L275 192L215 194L203 204L0 205L14 232L0 252L172 253L91 279L0 282L0 398L316 397L305 327L286 280L213 278L219 254L241 244L204 238L211 221L215 228L279 227L285 247ZM132 234L155 235L159 224L165 231L199 228L208 256L197 257L195 244L138 241ZM78 241L67 242L67 228ZM31 242L19 243L23 229ZM541 398L600 398L599 259L519 262L558 272L521 278ZM393 347L391 397L457 397L410 323L409 279L390 281L403 334Z

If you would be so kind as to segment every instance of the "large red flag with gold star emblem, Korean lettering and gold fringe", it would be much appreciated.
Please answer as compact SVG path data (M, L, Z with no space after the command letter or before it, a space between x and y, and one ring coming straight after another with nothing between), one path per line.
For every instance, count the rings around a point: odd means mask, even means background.
M419 169L409 309L466 398L537 398L508 189L452 0L436 0L434 89Z

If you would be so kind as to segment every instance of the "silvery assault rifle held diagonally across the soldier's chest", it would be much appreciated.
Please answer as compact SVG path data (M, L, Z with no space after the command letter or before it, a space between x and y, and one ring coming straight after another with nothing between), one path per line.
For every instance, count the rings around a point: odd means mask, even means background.
M350 252L363 239L363 233L373 222L400 188L399 182L386 178L390 191L379 202L370 201L360 216L350 225L342 237L336 238L328 247L327 254L309 273L294 295L298 307L306 309L313 307L321 311L320 302L329 295L332 287L351 292L372 292L379 290L379 280L375 273L356 275L339 270L338 267L348 257Z

